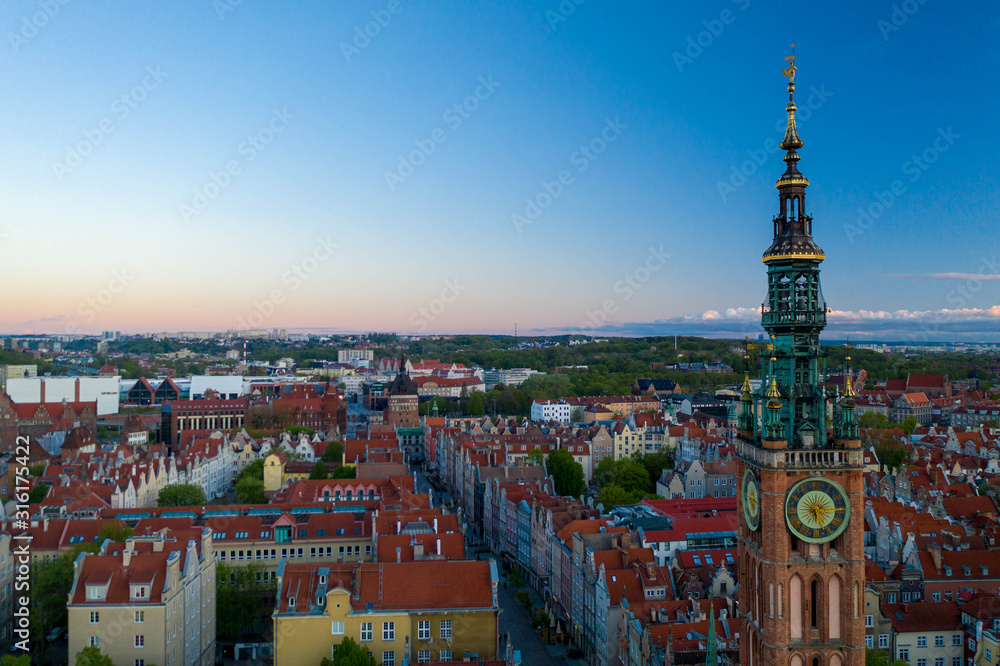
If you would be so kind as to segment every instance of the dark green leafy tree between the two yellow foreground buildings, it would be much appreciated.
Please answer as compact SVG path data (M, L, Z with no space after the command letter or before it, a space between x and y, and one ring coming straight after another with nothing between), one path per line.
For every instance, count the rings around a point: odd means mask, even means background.
M216 565L216 633L226 641L257 634L270 620L278 593L277 583L267 580L264 565L250 562L245 567Z

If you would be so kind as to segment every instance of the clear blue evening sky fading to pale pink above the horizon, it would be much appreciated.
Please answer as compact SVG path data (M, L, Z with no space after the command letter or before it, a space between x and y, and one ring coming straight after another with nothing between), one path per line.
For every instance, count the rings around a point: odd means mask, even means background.
M793 7L792 9L789 9ZM1000 339L1000 5L11 0L0 333Z

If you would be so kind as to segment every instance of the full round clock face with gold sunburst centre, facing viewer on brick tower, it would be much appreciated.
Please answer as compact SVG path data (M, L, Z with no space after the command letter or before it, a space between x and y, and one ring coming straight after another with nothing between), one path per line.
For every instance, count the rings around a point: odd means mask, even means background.
M825 543L840 536L851 517L847 493L830 479L799 481L785 497L785 522L807 543Z

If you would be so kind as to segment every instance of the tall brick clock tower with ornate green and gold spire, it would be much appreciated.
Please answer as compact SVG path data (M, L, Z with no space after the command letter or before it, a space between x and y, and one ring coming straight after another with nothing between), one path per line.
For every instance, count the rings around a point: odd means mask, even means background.
M760 389L743 383L737 428L740 663L862 666L863 452L850 375L840 409L825 386L824 256L806 212L809 181L798 169L795 56L786 60L786 168L761 308L771 343Z

